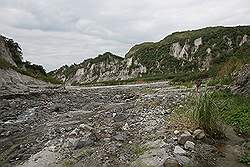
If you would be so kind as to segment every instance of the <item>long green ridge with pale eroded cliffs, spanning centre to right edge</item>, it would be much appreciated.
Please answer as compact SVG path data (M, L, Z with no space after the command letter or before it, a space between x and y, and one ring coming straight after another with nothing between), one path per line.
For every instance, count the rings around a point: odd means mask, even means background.
M176 32L159 42L135 45L125 58L105 53L51 74L66 84L86 84L187 72L217 73L218 64L234 57L243 46L249 48L249 36L250 26ZM247 51L240 54L249 61Z

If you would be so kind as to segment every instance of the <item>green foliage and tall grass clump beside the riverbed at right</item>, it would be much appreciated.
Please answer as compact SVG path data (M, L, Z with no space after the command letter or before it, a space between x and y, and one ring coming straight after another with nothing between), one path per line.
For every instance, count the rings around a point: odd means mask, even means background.
M250 97L235 95L230 90L204 91L200 97L190 96L180 109L186 122L191 118L213 138L223 137L223 123L241 134L250 134ZM180 118L181 116L179 116ZM185 121L184 121L185 122ZM194 125L194 126L197 126Z

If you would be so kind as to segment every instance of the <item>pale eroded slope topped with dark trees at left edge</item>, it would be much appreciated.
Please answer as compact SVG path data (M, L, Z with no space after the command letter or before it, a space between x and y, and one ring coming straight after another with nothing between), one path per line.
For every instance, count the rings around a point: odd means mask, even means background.
M12 39L0 36L0 95L23 93L31 87L48 86L42 66L22 61L22 50Z

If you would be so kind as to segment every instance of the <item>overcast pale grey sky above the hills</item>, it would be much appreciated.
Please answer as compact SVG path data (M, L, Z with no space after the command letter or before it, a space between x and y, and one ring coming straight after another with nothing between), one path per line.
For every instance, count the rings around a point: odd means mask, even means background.
M249 24L250 0L0 0L0 34L47 71L175 31Z

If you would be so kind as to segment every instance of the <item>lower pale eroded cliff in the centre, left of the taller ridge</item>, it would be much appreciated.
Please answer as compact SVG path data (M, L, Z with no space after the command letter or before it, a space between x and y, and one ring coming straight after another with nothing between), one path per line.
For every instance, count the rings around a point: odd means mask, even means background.
M73 70L67 76L67 68ZM62 67L53 72L66 85L98 83L110 80L127 80L146 73L147 69L133 58L123 59L111 53L99 55L74 67Z

